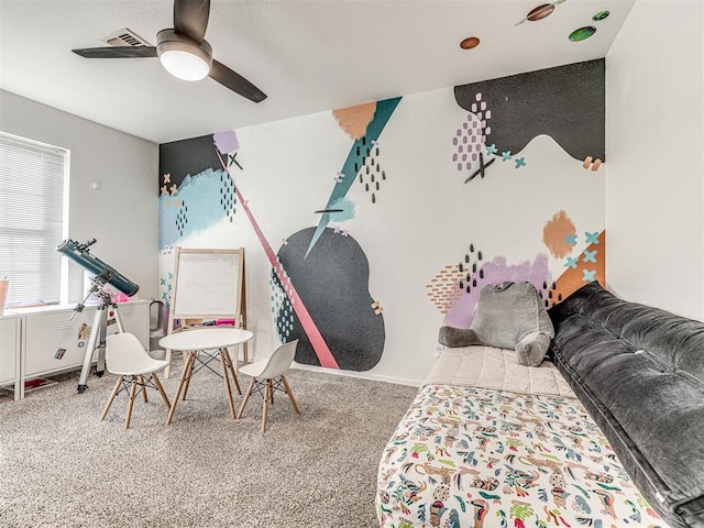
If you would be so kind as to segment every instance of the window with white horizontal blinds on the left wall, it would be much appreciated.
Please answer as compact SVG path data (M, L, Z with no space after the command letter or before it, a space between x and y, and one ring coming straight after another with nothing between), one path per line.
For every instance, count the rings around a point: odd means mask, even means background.
M0 132L0 278L8 304L61 297L69 153Z

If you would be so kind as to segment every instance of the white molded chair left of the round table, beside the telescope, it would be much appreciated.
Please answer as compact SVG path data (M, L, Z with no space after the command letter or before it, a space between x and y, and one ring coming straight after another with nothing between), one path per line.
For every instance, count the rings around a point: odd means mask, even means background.
M155 360L146 353L140 340L132 333L116 333L106 339L106 366L108 372L117 374L118 382L114 384L112 394L108 399L100 420L105 420L112 400L120 391L130 391L130 402L128 404L128 416L124 428L129 429L132 418L132 407L136 397L136 387L146 398L146 387L156 388L166 407L170 407L164 387L156 377L156 371L161 371L168 365L167 361ZM146 376L146 377L145 377Z

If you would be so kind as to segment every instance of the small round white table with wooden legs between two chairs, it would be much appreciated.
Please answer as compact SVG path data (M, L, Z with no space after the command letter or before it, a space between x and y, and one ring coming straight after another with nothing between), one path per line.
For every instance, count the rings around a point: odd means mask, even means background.
M194 375L194 372L198 372L198 370L204 366L210 369L208 363L217 356L220 356L220 364L222 365L222 378L224 380L226 393L230 404L230 413L232 414L232 419L237 419L228 370L230 371L230 374L232 374L232 380L234 381L238 393L242 394L242 391L240 389L240 383L238 382L237 363L230 358L228 346L240 346L241 344L250 341L253 337L254 334L252 332L240 328L209 327L172 333L158 340L158 344L164 349L180 350L184 352L185 356L184 370L180 373L180 380L178 381L176 397L172 400L172 407L168 411L168 418L166 419L167 426L172 422L182 391L184 393L183 399L186 399L186 393L188 392L188 385L190 384L190 378ZM216 352L209 353L208 351ZM199 358L200 353L206 356L205 360ZM238 354L234 356L237 358ZM199 366L194 371L196 361L199 362ZM216 372L212 369L210 370ZM216 372L216 374L219 373Z

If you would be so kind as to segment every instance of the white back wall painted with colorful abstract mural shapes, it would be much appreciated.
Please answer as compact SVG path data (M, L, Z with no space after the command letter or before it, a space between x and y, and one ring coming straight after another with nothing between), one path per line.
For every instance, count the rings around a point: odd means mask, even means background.
M481 288L604 284L604 62L161 145L172 251L245 248L254 354L419 382Z

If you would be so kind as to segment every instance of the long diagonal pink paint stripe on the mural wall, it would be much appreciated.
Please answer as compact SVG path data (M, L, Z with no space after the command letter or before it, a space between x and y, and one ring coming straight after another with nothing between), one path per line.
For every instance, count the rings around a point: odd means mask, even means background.
M222 168L229 174L219 152L218 152L218 157L220 157L220 163L222 164ZM316 352L316 355L318 356L318 361L320 361L320 366L324 366L326 369L340 369L340 366L338 365L338 362L334 360L332 355L332 352L330 352L330 348L328 346L328 343L326 343L324 338L318 330L316 322L312 320L312 317L310 317L310 314L308 312L308 309L304 305L302 300L300 300L300 297L298 296L298 292L296 292L296 288L294 288L294 285L292 284L290 279L284 273L284 266L276 258L276 254L274 253L274 250L267 242L266 238L264 237L264 233L262 233L262 230L260 229L258 223L256 223L256 220L254 219L252 211L250 211L250 208L246 205L246 201L244 201L244 198L242 197L242 193L240 193L240 187L235 185L234 191L238 195L238 200L240 200L240 205L244 209L244 213L250 219L250 223L252 224L254 232L256 233L257 238L260 239L260 242L262 243L262 248L264 249L264 253L266 253L268 262L272 264L272 267L276 272L276 275L278 276L278 279L282 283L282 286L284 287L284 290L288 296L288 300L290 300L290 304L294 307L294 311L298 316L298 320L302 324L304 330L308 336L308 340L312 345L312 350Z

